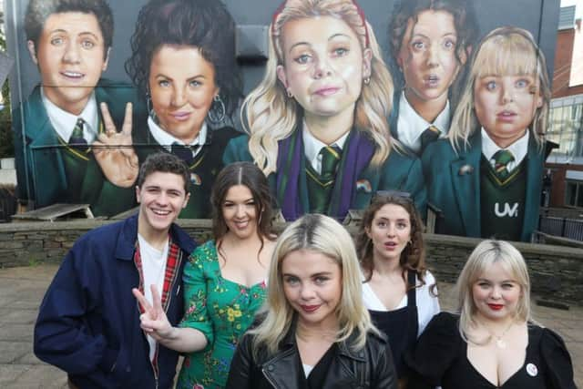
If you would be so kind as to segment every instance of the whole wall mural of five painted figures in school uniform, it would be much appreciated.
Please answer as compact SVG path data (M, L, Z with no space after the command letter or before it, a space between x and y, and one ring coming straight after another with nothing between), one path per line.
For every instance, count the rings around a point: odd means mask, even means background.
M19 200L112 216L136 205L140 161L167 151L191 171L183 218L210 217L216 174L252 160L287 220L342 220L398 190L441 210L445 233L529 240L549 100L538 45L554 49L542 15L557 0L531 6L530 25L507 2L288 0L253 15L225 3L30 0L14 28L40 77L13 99ZM271 23L267 62L243 63L244 77L233 17Z

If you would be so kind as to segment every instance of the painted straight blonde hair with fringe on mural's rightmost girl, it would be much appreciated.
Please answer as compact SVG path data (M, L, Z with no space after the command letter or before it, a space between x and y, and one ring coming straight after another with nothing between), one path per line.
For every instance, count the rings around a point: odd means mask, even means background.
M477 47L448 133L452 147L455 151L459 151L462 144L468 148L468 139L479 129L474 109L474 85L479 78L489 75L533 75L538 78L538 88L531 89L530 93L540 93L543 104L537 107L530 129L542 148L550 104L547 62L532 35L513 26L496 28Z

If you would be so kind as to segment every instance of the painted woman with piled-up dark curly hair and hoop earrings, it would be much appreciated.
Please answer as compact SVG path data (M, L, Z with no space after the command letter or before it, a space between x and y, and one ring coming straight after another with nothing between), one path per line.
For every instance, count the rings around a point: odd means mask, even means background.
M139 12L128 75L148 100L134 131L140 160L166 150L190 170L192 201L182 218L210 217L210 187L222 152L238 135L224 121L241 96L235 24L215 0L153 0Z

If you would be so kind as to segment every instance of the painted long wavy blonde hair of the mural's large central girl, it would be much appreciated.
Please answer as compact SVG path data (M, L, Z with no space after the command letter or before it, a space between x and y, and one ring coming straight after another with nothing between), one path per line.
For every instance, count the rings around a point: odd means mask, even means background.
M291 20L316 16L342 19L353 29L363 50L371 49L370 82L363 83L361 96L356 101L354 124L367 133L376 146L371 165L380 166L389 156L391 133L386 118L393 107L393 79L384 64L373 29L368 23L363 23L363 17L352 0L288 0L270 25L265 75L241 107L241 122L251 135L251 156L266 175L277 168L277 142L292 135L302 113L302 107L287 97L285 87L277 77L277 67L283 65L281 31Z

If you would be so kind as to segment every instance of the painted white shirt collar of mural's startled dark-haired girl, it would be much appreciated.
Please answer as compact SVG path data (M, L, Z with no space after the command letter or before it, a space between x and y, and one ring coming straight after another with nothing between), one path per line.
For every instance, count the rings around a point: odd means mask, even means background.
M404 92L396 92L394 94L393 111L389 118L391 127L391 135L398 139L399 142L414 155L421 157L421 136L424 130L433 126L440 131L439 138L445 138L449 130L451 109L449 100L445 104L444 109L437 115L433 123L429 123L424 118L421 118L414 108L411 107Z

